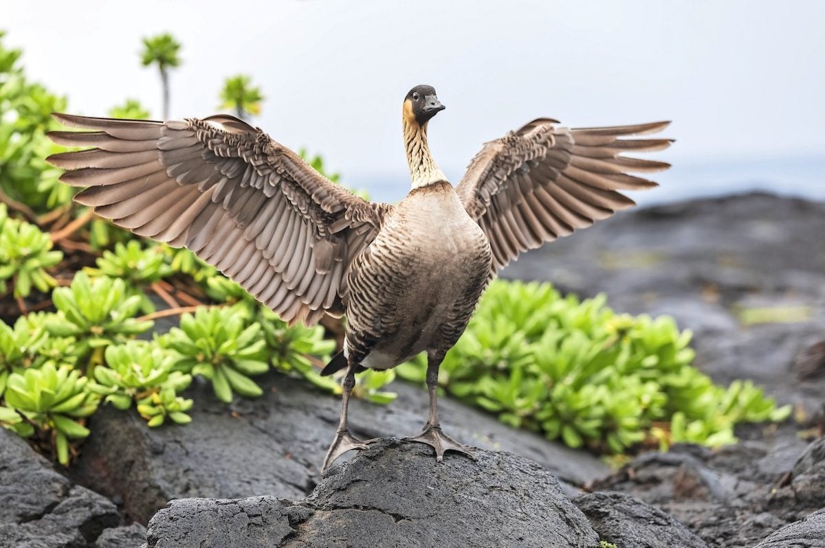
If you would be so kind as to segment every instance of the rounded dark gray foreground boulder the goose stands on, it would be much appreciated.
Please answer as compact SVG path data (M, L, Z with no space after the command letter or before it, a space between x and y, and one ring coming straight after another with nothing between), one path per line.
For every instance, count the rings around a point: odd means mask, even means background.
M148 547L594 548L598 536L553 475L521 457L478 461L382 439L335 466L309 497L182 499L148 525Z

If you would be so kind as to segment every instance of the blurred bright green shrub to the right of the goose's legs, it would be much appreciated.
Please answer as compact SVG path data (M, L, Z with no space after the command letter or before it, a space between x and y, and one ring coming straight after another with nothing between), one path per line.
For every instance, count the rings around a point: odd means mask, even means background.
M498 280L441 365L446 390L506 424L570 447L624 452L730 443L740 422L784 419L752 383L728 389L691 366L689 331L672 318L617 315L605 297L562 297L548 283ZM423 360L398 373L421 382ZM670 421L669 429L654 424Z

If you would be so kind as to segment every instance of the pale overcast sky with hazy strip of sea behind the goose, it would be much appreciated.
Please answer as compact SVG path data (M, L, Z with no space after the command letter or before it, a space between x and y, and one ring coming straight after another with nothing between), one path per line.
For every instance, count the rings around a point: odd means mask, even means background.
M482 143L530 119L672 119L677 142L656 157L674 167L648 199L763 175L825 199L814 179L825 170L818 0L0 0L0 13L27 73L84 115L134 97L157 117L159 78L140 66L140 39L172 32L183 44L172 118L214 114L224 77L250 74L266 96L252 124L323 153L343 182L379 199L408 188L401 104L421 83L447 107L429 140L453 182ZM728 176L707 176L713 166Z

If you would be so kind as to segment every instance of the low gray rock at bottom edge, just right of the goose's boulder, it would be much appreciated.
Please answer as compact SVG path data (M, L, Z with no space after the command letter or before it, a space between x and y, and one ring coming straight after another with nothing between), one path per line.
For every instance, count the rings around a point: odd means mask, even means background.
M573 499L601 540L621 548L707 548L687 527L624 493L588 493Z

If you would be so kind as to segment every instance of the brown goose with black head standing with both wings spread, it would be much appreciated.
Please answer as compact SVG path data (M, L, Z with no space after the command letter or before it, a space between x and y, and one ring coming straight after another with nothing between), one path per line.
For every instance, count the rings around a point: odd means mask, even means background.
M484 288L523 251L610 217L656 186L629 172L669 164L625 152L667 148L669 122L569 129L540 118L483 145L455 187L427 145L444 110L431 86L403 101L412 186L398 204L372 203L314 171L261 129L229 115L146 121L55 114L50 138L92 147L48 158L75 200L139 236L186 247L290 323L347 316L342 406L322 470L373 440L347 426L355 375L427 353L429 416L408 440L474 458L441 430L438 370Z

